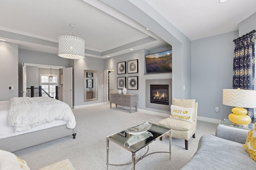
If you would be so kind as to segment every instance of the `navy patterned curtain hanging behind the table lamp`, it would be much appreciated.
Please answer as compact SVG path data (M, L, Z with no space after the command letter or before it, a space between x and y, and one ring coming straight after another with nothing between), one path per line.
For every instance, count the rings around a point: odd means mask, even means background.
M254 90L255 49L252 31L234 40L233 89ZM245 108L254 123L254 108Z

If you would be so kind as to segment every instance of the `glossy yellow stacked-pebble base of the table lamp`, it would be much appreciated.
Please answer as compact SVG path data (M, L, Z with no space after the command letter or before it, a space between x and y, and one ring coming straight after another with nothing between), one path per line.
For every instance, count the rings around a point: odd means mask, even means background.
M228 115L228 119L234 123L234 124L238 124L238 125L248 125L249 123L251 123L252 119L250 118L250 116L248 116L246 113L246 109L241 108L241 107L234 107L232 109L233 113L230 113Z

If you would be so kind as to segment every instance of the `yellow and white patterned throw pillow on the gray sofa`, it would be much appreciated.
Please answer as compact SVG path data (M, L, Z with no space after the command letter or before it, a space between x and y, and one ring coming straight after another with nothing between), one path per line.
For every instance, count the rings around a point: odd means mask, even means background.
M248 131L247 140L244 147L250 157L256 161L256 127L251 131Z

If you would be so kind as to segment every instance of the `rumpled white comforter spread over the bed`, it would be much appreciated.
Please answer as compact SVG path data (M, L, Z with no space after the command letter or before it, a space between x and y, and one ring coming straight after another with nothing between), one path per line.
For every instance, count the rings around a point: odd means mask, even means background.
M67 121L67 127L76 126L70 107L59 100L48 97L15 97L10 99L8 125L15 132L31 129L53 120Z

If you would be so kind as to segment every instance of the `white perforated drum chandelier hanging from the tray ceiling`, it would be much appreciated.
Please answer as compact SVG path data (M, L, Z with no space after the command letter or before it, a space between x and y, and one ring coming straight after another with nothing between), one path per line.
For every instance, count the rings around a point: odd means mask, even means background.
M74 36L74 24L69 24L72 31L68 35L58 37L59 53L58 56L67 59L84 59L84 45L85 41L79 37ZM75 33L76 34L76 33Z

